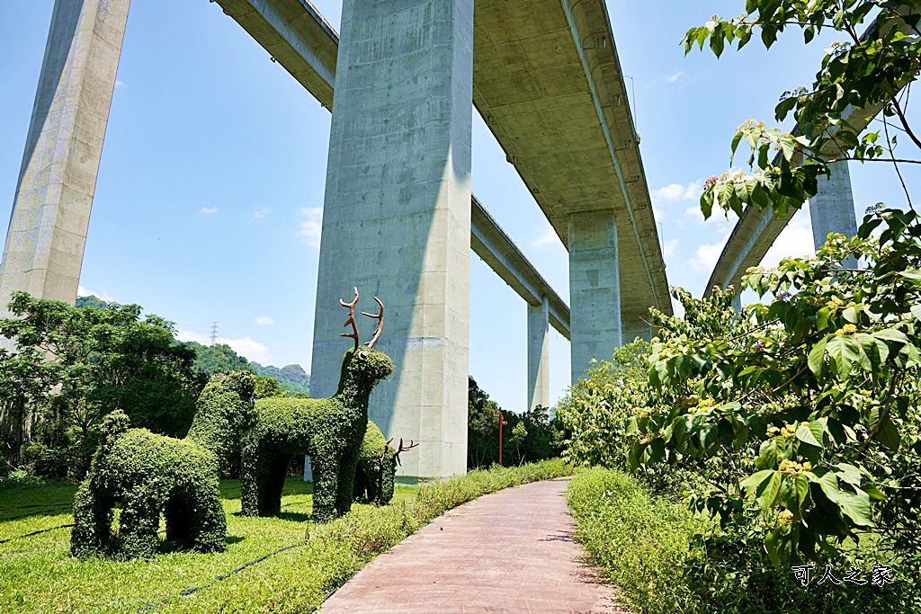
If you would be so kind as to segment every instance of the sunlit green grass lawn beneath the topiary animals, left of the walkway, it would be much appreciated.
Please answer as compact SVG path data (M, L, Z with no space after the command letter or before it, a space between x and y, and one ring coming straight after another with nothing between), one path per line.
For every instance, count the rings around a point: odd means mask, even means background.
M561 461L472 471L437 484L397 486L385 507L356 504L327 525L309 522L311 485L286 481L282 515L239 516L239 481L222 481L227 550L164 552L152 561L79 561L70 556L76 485L0 488L0 612L291 612L318 608L380 552L432 518L485 492L568 473ZM29 537L25 534L52 529ZM210 585L246 562L303 543ZM191 595L181 591L200 587ZM163 603L158 603L165 600Z

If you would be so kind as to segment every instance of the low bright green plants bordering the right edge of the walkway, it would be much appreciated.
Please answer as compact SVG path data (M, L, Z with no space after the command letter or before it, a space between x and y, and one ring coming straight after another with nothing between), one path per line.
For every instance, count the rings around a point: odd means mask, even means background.
M570 482L567 501L577 539L617 585L635 614L904 614L921 611L916 573L855 547L848 560L831 561L840 579L855 565L869 579L873 564L892 566L895 584L818 585L824 567L803 587L791 570L777 570L757 535L720 532L683 504L649 491L614 469L585 469Z

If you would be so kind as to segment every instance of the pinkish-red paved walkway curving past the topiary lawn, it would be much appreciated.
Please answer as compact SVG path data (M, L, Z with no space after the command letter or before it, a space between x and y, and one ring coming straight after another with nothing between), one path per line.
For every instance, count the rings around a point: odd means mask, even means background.
M610 586L579 564L567 480L487 494L381 554L321 614L613 614Z

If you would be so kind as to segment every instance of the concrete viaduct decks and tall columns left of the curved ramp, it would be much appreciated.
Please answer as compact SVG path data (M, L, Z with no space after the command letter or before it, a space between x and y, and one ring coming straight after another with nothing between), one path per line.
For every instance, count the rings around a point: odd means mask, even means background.
M6 295L76 293L129 1L55 6L6 242ZM341 38L307 0L217 4L332 110L311 388L325 396L338 379L335 298L353 285L386 296L380 346L400 369L376 390L371 418L422 441L407 475L465 469L471 248L528 301L530 356L545 352L532 330L568 330L574 380L624 338L649 337L648 307L670 313L602 0L344 0ZM569 251L568 327L565 303L472 199L471 101ZM62 139L76 150L55 148ZM533 287L517 287L524 281ZM529 371L535 402L541 368Z

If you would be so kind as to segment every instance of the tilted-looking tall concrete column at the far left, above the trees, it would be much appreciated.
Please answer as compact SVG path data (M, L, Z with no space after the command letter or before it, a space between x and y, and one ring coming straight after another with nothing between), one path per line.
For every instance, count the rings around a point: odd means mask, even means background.
M0 264L10 295L74 304L130 0L56 0Z

